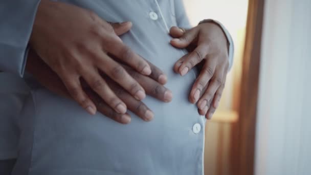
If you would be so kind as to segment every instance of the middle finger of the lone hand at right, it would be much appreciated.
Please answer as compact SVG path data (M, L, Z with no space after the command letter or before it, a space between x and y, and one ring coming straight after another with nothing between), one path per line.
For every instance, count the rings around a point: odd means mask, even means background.
M206 60L199 76L192 86L192 90L189 95L189 101L191 103L196 103L202 92L204 92L204 88L207 86L208 82L214 75L215 67L216 61L214 59L210 58Z

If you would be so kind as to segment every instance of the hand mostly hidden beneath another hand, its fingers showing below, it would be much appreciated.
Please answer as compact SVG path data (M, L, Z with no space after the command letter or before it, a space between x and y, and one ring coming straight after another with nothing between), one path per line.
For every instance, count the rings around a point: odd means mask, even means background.
M115 32L119 35L128 31L128 27L123 24L111 25L113 26ZM122 63L120 63L120 65L124 70L126 70L129 76L135 79L142 86L147 95L164 102L170 102L172 100L172 93L163 86L166 81L156 81L161 75L164 75L164 73L150 62L146 62L152 70L152 73L149 76L142 75L137 72L137 70ZM26 70L31 73L34 78L41 83L41 85L45 86L45 88L53 93L63 97L73 98L60 77L45 62L43 62L33 50L30 50L28 54ZM135 113L145 121L152 120L154 114L148 106L146 106L141 100L133 97L129 92L122 88L122 86L113 81L103 72L99 72L99 74L113 93L125 103L129 111ZM80 79L80 81L82 91L94 102L100 113L119 123L126 124L130 122L131 116L128 113L120 114L116 112L114 108L108 105L96 92L93 91L84 79Z

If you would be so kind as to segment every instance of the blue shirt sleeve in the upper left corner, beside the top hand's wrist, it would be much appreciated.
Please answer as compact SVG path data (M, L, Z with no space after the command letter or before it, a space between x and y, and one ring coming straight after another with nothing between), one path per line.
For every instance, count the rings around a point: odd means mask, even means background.
M40 0L0 1L0 70L23 76Z

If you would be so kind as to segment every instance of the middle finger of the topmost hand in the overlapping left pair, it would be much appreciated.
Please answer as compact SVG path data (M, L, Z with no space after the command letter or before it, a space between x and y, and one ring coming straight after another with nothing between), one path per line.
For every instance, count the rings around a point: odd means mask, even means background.
M103 54L102 57L102 59L99 58L99 62L101 63L97 65L101 71L120 84L120 86L136 99L142 100L146 97L145 90L142 86L127 73L120 63L114 61L107 55Z

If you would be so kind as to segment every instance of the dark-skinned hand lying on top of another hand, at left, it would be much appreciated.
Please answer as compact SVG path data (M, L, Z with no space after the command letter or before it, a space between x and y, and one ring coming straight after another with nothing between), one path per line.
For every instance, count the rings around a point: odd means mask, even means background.
M123 24L128 30L131 25L129 22ZM150 75L152 70L145 59L122 42L119 34L90 10L63 2L41 0L29 45L87 112L95 114L97 109L82 90L81 78L116 112L125 114L126 104L99 72L105 73L137 100L142 100L146 96L145 90L118 60L142 75ZM159 82L166 81L164 74L156 78Z

